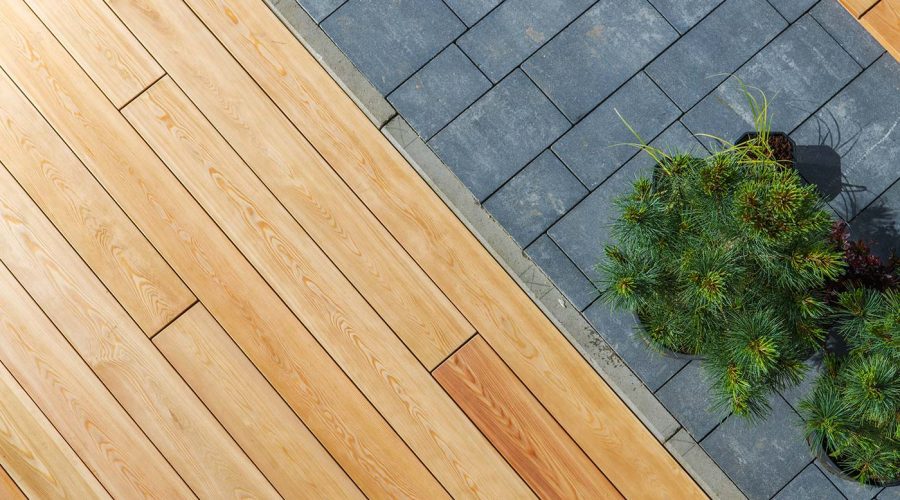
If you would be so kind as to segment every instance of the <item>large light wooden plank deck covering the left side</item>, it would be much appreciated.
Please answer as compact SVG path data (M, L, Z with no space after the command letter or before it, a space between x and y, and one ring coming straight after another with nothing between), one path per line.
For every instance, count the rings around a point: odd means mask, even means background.
M0 5L0 496L704 496L262 0Z

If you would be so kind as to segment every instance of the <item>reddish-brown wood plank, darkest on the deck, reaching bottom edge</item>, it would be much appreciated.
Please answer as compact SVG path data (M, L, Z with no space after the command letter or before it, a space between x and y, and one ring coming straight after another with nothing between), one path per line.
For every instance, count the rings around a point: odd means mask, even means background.
M622 498L481 337L434 376L540 498Z

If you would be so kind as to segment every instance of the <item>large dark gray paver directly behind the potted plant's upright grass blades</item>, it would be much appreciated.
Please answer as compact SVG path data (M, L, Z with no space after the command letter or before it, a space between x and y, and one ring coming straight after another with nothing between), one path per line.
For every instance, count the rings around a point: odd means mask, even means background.
M804 16L753 56L736 76L765 92L772 129L790 132L859 72L859 65L837 42ZM749 106L735 79L720 85L682 121L694 133L728 141L753 128Z

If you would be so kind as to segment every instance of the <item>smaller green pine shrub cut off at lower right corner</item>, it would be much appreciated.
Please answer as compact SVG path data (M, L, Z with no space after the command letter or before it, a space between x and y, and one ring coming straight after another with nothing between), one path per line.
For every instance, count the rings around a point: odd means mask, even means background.
M837 316L849 353L826 355L801 402L807 436L861 482L900 480L900 292L842 292Z

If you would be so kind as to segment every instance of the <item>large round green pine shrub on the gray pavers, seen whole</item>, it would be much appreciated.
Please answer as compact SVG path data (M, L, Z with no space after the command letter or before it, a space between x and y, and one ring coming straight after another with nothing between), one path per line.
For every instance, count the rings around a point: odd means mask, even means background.
M762 416L819 348L820 292L842 270L814 186L770 158L767 134L706 158L656 160L616 201L601 296L664 350L700 354L720 405Z

